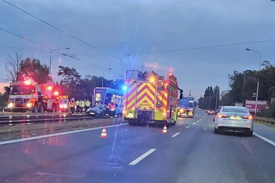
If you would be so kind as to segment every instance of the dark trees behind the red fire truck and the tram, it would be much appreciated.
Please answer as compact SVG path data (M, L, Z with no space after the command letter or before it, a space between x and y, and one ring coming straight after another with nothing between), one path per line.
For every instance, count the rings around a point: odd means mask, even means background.
M61 81L54 82L49 76L49 67L41 64L38 58L22 57L22 54L15 52L14 56L9 55L5 63L7 82L20 81L22 77L31 77L37 83L53 83L61 86L61 95L68 95L75 99L92 99L95 87L101 87L102 77L86 75L82 77L74 68L59 66L58 76ZM104 87L121 89L124 80L107 80L103 78ZM7 106L9 99L9 86L4 87L5 93L0 93L0 106Z

